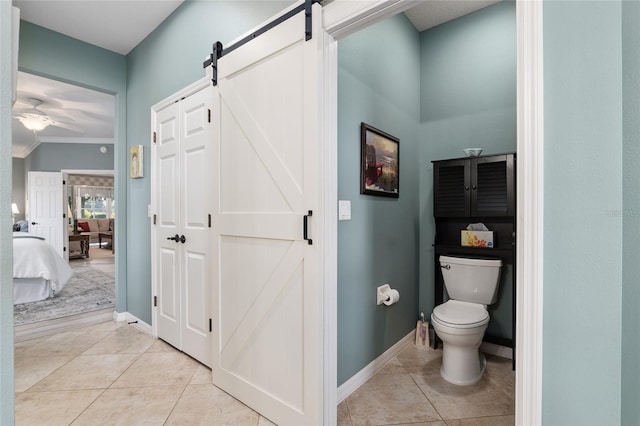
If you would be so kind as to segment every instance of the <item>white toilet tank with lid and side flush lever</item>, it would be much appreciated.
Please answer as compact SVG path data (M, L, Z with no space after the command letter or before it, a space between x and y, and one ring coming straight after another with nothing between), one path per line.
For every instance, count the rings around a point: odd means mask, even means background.
M498 296L500 259L440 256L440 268L449 297L491 305Z

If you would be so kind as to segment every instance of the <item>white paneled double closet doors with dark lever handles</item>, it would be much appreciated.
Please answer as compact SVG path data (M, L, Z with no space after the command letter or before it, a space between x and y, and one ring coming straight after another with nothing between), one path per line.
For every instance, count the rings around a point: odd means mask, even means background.
M211 365L213 89L158 112L154 156L158 209L158 337Z

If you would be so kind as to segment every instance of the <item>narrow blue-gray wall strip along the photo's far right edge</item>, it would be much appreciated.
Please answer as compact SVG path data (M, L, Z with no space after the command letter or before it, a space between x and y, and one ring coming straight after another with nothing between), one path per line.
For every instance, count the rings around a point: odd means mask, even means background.
M640 1L622 2L622 421L640 424Z

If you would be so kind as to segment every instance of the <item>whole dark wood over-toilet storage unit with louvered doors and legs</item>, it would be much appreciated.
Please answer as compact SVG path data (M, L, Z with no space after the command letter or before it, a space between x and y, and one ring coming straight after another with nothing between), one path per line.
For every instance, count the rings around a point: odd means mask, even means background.
M515 348L516 338L515 188L515 154L433 161L435 302L440 304L445 301L444 280L437 267L441 255L500 258L503 264L512 265L511 282L505 283L512 286L512 338L492 336L490 333L484 337L485 341L511 348ZM484 223L494 232L492 248L461 245L460 231L475 222Z

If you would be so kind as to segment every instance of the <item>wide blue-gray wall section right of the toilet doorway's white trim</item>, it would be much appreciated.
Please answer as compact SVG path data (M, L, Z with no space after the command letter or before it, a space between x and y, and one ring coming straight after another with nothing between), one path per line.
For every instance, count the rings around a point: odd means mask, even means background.
M621 3L544 2L543 424L621 422Z

